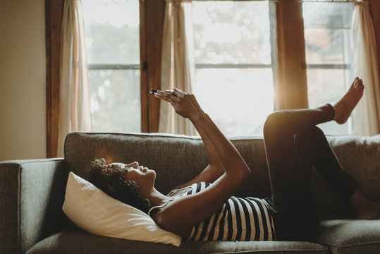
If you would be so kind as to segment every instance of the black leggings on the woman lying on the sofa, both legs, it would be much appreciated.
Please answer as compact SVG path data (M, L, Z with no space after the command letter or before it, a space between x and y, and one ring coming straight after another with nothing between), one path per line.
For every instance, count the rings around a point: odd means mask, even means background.
M319 220L314 208L310 174L314 165L343 198L357 183L343 170L324 133L316 125L333 120L330 104L317 109L277 111L264 124L264 144L271 180L276 238L317 241Z

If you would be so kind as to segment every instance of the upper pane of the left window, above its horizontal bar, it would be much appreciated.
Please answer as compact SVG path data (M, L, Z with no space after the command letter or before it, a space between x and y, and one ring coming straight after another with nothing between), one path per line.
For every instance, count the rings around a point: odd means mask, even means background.
M140 63L137 0L82 0L88 63Z

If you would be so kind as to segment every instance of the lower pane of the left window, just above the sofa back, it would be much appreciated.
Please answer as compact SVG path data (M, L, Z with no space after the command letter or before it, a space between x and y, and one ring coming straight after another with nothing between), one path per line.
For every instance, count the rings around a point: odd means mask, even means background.
M92 131L140 132L140 71L90 70L89 76Z

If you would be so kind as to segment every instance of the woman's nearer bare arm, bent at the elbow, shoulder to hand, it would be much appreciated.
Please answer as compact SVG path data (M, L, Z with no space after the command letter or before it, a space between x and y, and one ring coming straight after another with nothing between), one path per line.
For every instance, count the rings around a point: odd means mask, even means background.
M171 102L176 113L190 119L195 126L204 131L224 170L223 174L204 191L178 198L154 214L154 220L159 226L180 236L187 236L192 226L214 214L238 190L250 175L250 169L231 141L202 111L194 95L178 90L176 95L178 97L164 96L168 102Z

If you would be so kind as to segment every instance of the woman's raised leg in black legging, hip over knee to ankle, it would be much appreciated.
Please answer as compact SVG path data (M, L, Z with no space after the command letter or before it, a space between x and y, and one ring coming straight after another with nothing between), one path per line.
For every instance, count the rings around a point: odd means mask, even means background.
M305 155L306 150L300 154L295 135L333 117L333 107L326 104L317 109L278 111L266 120L264 144L280 240L317 240L318 219L309 184L312 164L303 158L312 155Z

